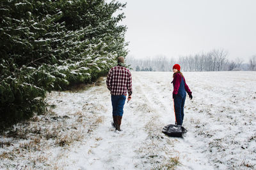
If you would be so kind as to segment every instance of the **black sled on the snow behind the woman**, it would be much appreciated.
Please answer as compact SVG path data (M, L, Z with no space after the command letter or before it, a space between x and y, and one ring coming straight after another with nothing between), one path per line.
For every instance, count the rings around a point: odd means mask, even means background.
M167 134L168 136L172 136L172 137L182 137L183 133L186 133L187 130L182 127L181 125L166 125L164 126L162 132L164 134Z

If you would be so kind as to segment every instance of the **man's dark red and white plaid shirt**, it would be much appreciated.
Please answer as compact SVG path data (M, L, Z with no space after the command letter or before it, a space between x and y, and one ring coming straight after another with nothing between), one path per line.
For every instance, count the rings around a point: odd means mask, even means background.
M129 69L115 66L109 70L107 87L112 95L132 94L132 75Z

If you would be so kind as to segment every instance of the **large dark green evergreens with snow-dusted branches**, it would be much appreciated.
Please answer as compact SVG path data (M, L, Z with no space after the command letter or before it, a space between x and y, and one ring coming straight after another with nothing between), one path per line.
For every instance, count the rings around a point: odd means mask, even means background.
M125 4L0 1L0 124L45 111L45 92L90 82L126 56Z

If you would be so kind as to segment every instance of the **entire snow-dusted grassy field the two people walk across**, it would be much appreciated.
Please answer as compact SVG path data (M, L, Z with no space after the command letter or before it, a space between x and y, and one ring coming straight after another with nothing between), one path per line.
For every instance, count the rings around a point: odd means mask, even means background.
M1 169L256 169L256 73L184 73L184 138L175 122L172 73L132 72L121 129L111 127L106 78L86 90L51 92L46 115L0 136Z

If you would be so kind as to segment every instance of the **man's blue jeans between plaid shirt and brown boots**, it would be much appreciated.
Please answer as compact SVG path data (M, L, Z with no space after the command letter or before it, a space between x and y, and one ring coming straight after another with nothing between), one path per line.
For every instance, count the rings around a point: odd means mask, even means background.
M123 116L125 99L124 95L111 95L113 116Z

